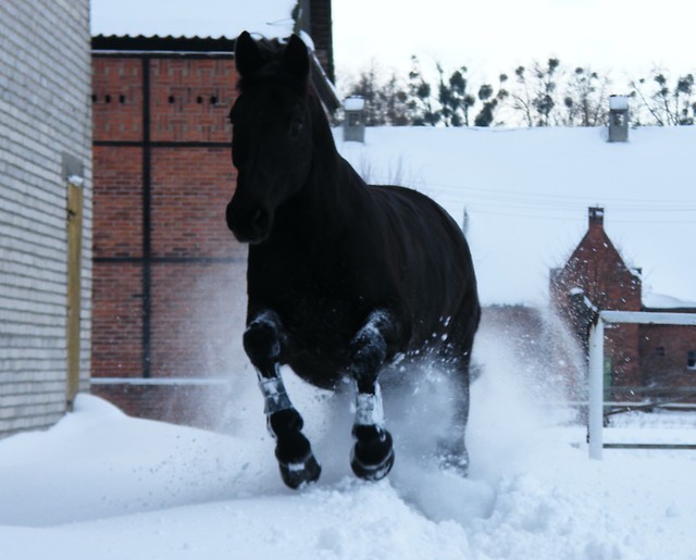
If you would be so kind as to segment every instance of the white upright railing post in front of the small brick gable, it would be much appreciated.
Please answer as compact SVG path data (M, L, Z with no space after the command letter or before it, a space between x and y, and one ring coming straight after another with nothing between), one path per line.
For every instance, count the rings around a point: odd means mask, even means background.
M604 447L601 437L605 420L604 362L605 322L601 315L599 315L597 322L592 325L589 331L589 410L587 413L587 435L591 459L601 459Z

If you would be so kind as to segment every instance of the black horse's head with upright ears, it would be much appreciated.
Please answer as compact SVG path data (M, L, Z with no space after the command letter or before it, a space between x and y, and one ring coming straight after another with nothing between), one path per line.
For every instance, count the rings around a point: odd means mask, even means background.
M307 182L312 158L309 54L297 36L284 47L236 42L240 95L229 119L237 188L227 204L227 226L243 242L270 234L277 208Z

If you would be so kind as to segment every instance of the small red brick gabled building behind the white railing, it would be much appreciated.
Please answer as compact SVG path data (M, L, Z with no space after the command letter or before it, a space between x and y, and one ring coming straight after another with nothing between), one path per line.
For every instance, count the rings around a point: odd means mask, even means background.
M583 345L598 309L696 313L687 306L644 303L642 271L625 264L604 228L604 216L601 208L589 209L587 233L566 265L551 271L551 300ZM605 387L614 399L674 396L696 388L695 327L611 325L606 345Z

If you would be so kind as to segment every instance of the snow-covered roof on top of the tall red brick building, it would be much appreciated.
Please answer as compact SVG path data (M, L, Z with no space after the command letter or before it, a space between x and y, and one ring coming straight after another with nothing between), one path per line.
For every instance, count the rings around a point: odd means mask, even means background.
M293 33L296 0L91 0L92 35L227 37L248 30L268 38ZM215 14L215 17L211 17Z

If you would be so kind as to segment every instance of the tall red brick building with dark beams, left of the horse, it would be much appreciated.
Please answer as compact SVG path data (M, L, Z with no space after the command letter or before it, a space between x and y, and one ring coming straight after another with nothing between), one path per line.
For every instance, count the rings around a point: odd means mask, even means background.
M92 39L92 393L137 416L214 426L246 366L246 248L224 219L233 53L229 39Z

